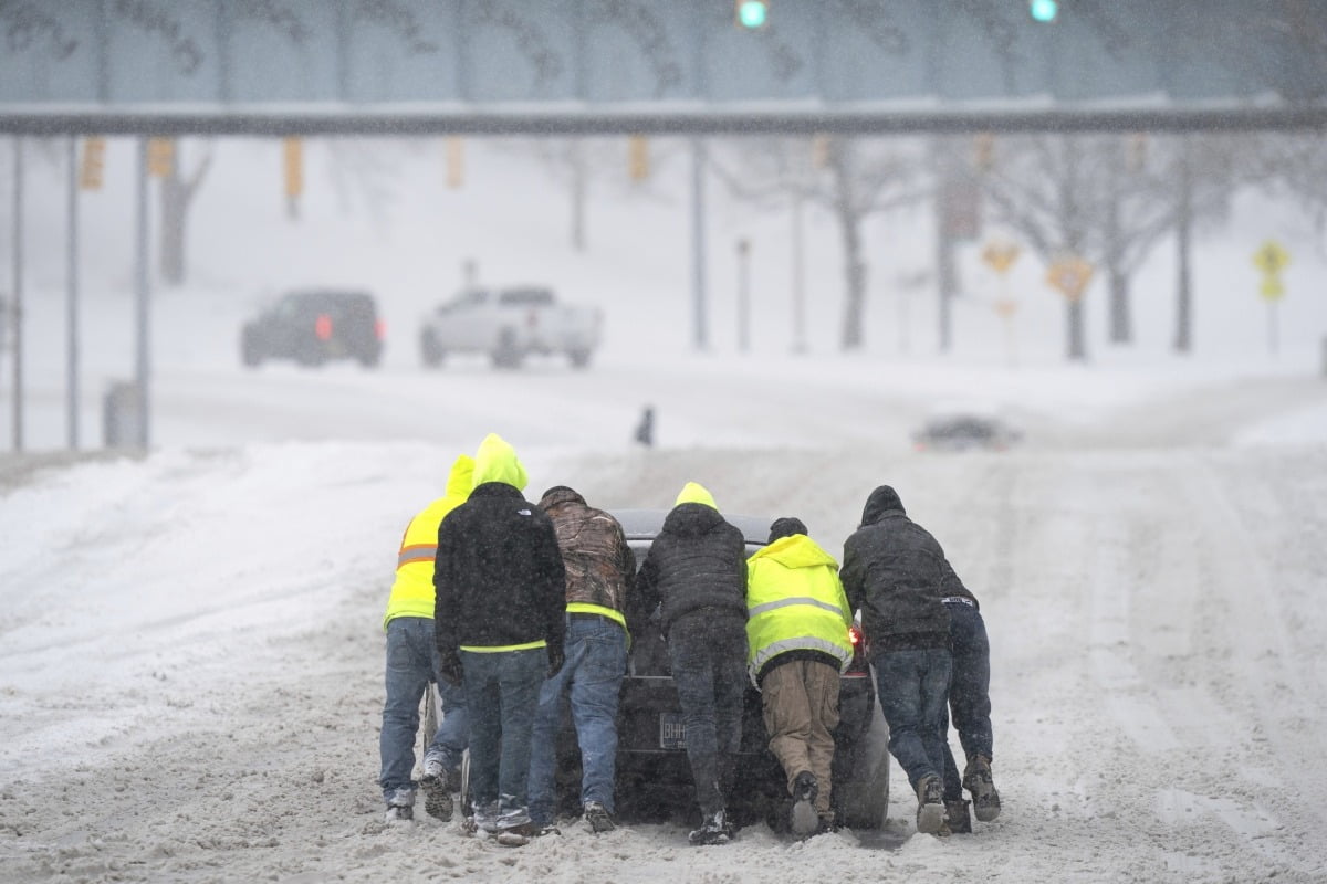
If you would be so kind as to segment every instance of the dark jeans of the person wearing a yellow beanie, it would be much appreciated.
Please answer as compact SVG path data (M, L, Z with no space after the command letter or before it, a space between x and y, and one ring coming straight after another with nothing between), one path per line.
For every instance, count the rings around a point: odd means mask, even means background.
M682 705L695 803L701 814L711 816L725 808L733 790L742 745L746 620L713 610L686 614L669 628L667 651Z

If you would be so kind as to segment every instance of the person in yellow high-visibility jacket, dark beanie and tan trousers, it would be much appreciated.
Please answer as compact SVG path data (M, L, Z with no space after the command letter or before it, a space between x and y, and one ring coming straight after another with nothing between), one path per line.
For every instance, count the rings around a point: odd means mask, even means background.
M775 520L768 545L747 559L747 671L760 688L770 751L788 778L799 838L833 827L829 770L851 626L839 563L807 537L802 520Z

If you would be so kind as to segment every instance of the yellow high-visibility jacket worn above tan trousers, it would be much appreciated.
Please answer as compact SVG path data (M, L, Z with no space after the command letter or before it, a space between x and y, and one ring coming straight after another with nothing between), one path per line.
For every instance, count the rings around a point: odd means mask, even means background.
M751 680L788 651L852 661L852 610L839 563L805 534L780 537L747 559L747 671Z

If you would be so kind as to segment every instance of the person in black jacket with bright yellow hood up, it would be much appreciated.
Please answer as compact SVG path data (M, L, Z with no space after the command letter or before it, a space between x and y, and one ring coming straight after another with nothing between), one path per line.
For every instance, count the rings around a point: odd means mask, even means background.
M525 468L500 436L479 445L474 482L438 527L434 630L441 675L463 685L470 712L472 823L525 835L539 688L563 665L565 571L553 524L522 497Z

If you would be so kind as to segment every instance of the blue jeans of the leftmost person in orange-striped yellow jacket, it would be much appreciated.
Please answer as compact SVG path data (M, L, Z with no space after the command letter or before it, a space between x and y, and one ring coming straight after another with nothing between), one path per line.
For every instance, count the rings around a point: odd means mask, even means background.
M399 790L414 791L414 741L419 733L419 701L437 681L442 693L442 724L426 754L442 754L447 767L459 767L466 751L470 726L466 697L438 676L438 647L429 618L393 618L387 623L386 702L382 705L382 732L378 754L382 773L378 785L390 802ZM397 799L398 802L401 798Z

